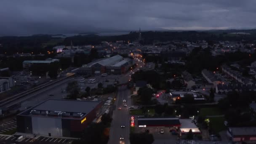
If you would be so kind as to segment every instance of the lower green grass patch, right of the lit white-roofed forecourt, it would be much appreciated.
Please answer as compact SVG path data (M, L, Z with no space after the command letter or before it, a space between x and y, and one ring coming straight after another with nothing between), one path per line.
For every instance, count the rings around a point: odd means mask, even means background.
M210 117L209 120L214 133L219 133L220 131L225 131L227 129L224 125L224 117Z

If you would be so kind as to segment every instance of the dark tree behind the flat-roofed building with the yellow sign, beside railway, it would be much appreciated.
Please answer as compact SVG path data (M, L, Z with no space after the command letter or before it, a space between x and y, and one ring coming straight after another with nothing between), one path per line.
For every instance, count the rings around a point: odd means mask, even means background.
M69 99L77 99L80 93L80 88L78 86L77 81L69 82L67 85L66 91L67 93L69 93L68 95Z

